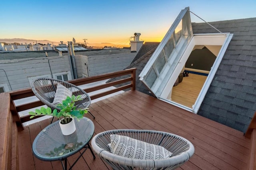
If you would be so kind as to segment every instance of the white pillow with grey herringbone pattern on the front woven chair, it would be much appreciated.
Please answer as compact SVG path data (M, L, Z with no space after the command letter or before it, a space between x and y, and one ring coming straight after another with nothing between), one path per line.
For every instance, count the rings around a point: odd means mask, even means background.
M113 154L133 159L164 159L172 156L164 147L142 142L128 136L110 134L108 144Z

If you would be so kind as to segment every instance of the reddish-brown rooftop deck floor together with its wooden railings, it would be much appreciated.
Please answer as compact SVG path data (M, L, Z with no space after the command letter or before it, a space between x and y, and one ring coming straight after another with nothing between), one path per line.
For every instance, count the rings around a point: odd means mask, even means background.
M252 140L246 138L244 134L238 130L227 127L200 115L185 111L184 109L170 105L164 101L135 90L135 73L131 70L134 71L134 69L129 69L105 74L104 78L111 78L124 75L125 72L130 73L131 77L126 79L126 81L132 80L131 84L126 85L126 87L114 89L114 92L130 87L132 90L109 97L102 101L97 101L96 103L92 103L90 105L89 109L96 118L93 120L90 115L86 115L86 117L92 119L95 125L94 134L111 129L148 129L170 132L190 140L195 147L194 155L184 165L178 168L180 170L242 170L247 168L249 163L248 160L250 158ZM103 77L93 76L70 82L75 85L82 85L88 82L98 81L99 79L103 79ZM121 80L119 83L122 83L123 81L124 80ZM116 84L116 82L112 82L107 85L100 85L99 87L90 87L85 90L89 92L95 91L113 84ZM96 99L110 93L110 91L103 92L92 95L91 98ZM40 102L36 101L20 106L15 106L12 104L12 102L9 103L9 101L32 95L33 93L31 92L31 89L0 94L0 99L4 101L0 105L0 115L3 118L1 119L0 124L2 129L2 133L0 133L0 148L2 148L2 151L3 148L7 148L4 149L4 153L0 151L0 160L3 160L2 158L7 153L7 158L12 158L10 162L18 160L14 164L10 163L13 169L19 168L20 170L39 170L42 169L42 167L43 169L61 169L62 166L59 161L41 161L35 158L32 154L32 144L36 135L44 127L50 124L50 120L46 119L44 121L34 123L24 127L24 130L22 130L20 123L26 122L29 120L29 118L28 116L25 116L17 119L15 116L16 111L18 112L33 108L35 106L40 106L42 103L40 104ZM12 111L12 114L10 114L8 110ZM9 119L13 119L14 123L12 123L12 121L8 121ZM7 128L8 122L12 128ZM18 127L18 132L15 130L15 127ZM17 138L15 136L15 132L17 133ZM8 139L8 136L13 137L10 140ZM8 141L12 142L8 143ZM8 145L6 146L5 144ZM10 154L11 152L14 154ZM77 154L70 156L68 158L68 164L72 164L77 156ZM80 158L73 169L76 170L81 168L88 168L92 170L99 168L106 170L110 169L110 167L102 162L98 156L96 156L96 160L93 160L89 150L83 154L82 158Z

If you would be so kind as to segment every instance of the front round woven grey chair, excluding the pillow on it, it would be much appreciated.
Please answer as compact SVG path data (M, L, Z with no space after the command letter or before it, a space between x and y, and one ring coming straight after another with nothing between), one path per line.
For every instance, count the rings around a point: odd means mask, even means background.
M132 159L118 156L110 152L110 134L129 136L137 140L160 145L170 152L170 158L158 160ZM108 130L92 138L92 149L115 170L133 169L164 169L172 170L184 164L193 154L194 146L191 142L178 135L155 130Z

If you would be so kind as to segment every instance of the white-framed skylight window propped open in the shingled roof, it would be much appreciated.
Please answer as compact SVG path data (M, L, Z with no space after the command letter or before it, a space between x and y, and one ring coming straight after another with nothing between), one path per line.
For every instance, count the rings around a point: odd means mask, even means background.
M233 34L230 33L193 34L190 11L187 7L180 12L162 42L158 45L140 73L140 80L158 99L197 113L232 36ZM207 48L210 53L216 56L216 59L211 63L211 69L196 69L196 63L192 63L195 69L185 67L192 51L203 48ZM188 75L190 72L190 75L192 73L205 73L204 76L207 76L192 104L182 103L172 97L173 86L179 75L184 71L187 71ZM186 94L183 96L186 98Z

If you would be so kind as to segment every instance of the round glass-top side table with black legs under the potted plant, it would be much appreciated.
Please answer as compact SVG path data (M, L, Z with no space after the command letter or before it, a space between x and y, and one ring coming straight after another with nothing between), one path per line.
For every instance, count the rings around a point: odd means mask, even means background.
M77 121L76 119L74 121L76 131L67 136L62 134L59 121L56 121L44 128L36 136L33 142L32 150L36 158L45 161L64 160L64 164L62 162L62 166L63 169L66 170L68 156L71 156L84 148L80 156L74 162L74 164L76 164L87 148L92 152L89 142L94 133L93 122L86 117L80 119L80 121ZM93 152L92 156L95 159ZM70 166L70 169L74 164Z

